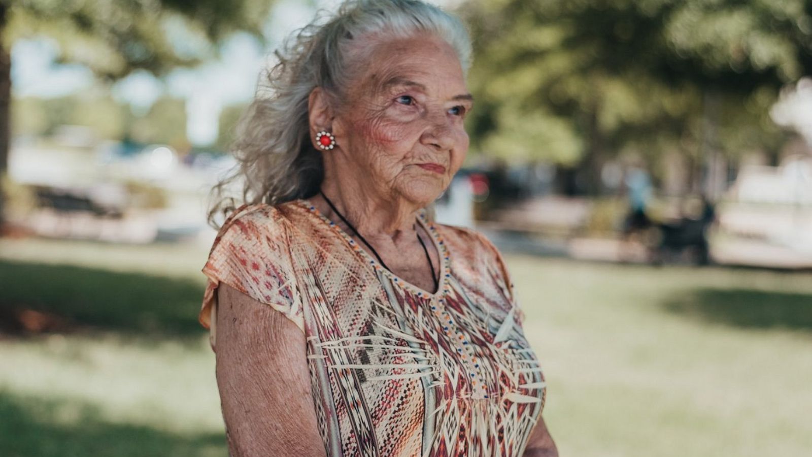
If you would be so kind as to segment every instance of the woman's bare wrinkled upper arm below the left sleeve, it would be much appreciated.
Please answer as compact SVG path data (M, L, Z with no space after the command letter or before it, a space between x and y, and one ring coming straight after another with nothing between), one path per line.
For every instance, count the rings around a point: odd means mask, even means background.
M218 287L217 382L232 457L326 455L305 337L281 312Z

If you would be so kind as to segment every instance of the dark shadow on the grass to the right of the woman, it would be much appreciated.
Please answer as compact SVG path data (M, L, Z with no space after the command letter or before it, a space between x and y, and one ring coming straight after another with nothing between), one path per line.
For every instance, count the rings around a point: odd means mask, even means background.
M748 329L812 332L812 294L753 289L698 289L665 302L667 311Z

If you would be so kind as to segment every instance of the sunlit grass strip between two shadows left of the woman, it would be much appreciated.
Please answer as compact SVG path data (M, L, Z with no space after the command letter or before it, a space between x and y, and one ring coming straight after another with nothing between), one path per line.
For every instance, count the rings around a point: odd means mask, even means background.
M106 420L177 433L222 431L214 356L206 337L119 337L115 333L6 340L0 389L72 398Z

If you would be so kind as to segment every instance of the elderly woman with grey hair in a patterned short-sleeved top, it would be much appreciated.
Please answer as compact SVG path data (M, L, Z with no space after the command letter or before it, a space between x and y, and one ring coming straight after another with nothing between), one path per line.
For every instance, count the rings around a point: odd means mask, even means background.
M426 209L469 146L464 25L345 2L278 56L203 268L231 455L557 455L502 256Z

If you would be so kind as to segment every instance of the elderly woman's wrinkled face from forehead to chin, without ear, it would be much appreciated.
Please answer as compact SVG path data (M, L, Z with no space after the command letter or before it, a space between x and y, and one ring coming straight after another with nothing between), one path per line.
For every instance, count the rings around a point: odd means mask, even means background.
M472 98L456 53L436 37L383 42L357 81L333 130L358 173L337 177L383 198L433 202L469 146L463 120Z

